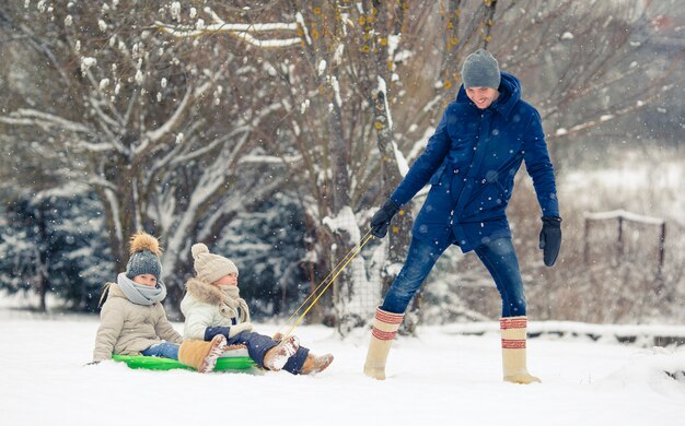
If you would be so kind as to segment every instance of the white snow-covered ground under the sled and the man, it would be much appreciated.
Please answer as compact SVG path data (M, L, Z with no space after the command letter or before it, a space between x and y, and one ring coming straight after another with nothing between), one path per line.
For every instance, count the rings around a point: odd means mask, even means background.
M299 327L303 345L336 359L298 377L84 366L96 328L96 317L0 309L0 424L685 425L685 347L532 339L529 366L543 383L518 386L500 379L497 333L428 327L395 342L388 378L375 381L361 372L361 330L341 341L330 329Z

